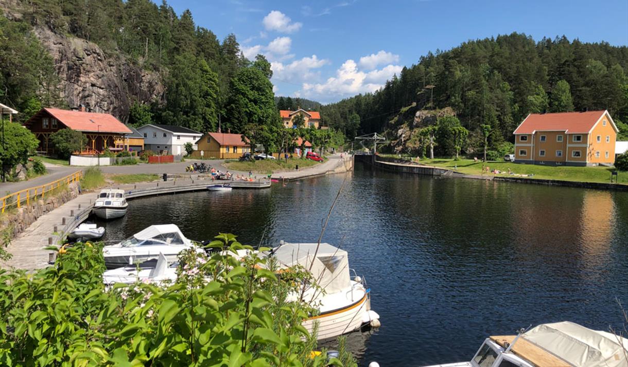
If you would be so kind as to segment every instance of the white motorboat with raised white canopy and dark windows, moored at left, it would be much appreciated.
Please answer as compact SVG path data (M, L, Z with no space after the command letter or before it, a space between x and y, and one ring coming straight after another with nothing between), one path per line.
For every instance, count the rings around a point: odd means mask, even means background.
M160 224L150 226L120 243L105 246L103 251L105 265L111 269L156 259L160 253L173 263L178 261L181 251L189 248L205 252L185 238L175 224Z

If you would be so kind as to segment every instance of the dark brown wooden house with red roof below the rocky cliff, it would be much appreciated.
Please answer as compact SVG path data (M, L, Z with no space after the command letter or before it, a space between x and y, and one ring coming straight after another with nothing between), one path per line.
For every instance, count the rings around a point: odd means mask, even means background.
M48 155L55 153L50 135L60 129L80 131L87 137L87 146L78 152L80 154L94 154L106 148L111 151L124 150L124 136L133 133L111 114L85 112L84 107L79 111L42 108L24 126L40 141L37 150Z

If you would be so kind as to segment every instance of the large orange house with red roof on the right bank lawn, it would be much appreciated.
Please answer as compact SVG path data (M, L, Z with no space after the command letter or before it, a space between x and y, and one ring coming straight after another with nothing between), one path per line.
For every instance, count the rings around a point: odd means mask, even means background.
M515 162L612 165L617 131L609 111L529 114L514 131Z

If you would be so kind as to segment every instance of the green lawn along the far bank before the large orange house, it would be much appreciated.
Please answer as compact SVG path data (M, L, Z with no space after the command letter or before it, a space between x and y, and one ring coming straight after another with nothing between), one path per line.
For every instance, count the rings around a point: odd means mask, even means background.
M508 168L510 168L512 173L534 175L532 178L604 183L610 182L610 172L614 170L614 168L608 167L555 167L511 162L476 163L473 160L468 159L455 161L447 158L435 158L433 160L425 159L420 160L419 163L436 167L450 168L452 170L456 170L457 172L467 173L470 175L482 175L482 166L487 165L490 170L496 169L506 172L497 174L497 176L501 177L508 177ZM489 173L485 173L485 175L488 174ZM493 173L490 173L490 175L493 175ZM628 172L619 172L618 177L620 184L628 184Z

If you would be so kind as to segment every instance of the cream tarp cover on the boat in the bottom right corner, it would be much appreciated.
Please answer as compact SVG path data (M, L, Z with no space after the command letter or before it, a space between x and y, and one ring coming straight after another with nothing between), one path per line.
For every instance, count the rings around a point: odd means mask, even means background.
M610 332L563 321L541 324L524 333L523 337L573 366L628 366L628 339Z

